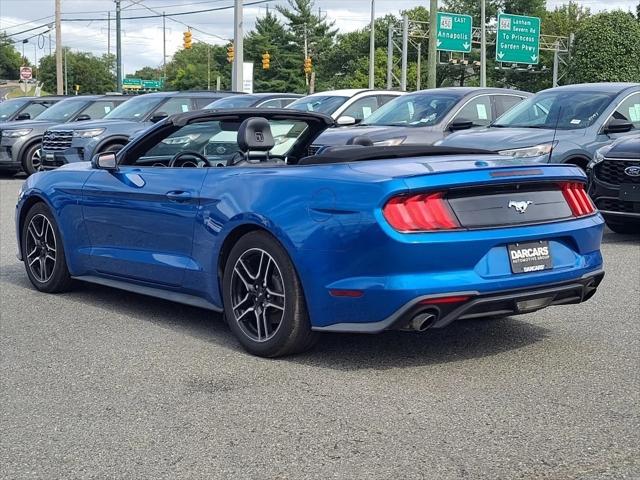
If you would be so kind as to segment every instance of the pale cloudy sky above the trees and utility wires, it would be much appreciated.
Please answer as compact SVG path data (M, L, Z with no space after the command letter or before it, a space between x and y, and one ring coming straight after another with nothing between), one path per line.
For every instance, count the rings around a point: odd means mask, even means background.
M245 4L254 0L244 0ZM115 53L115 4L112 0L61 0L63 19L102 19L82 22L63 22L62 41L72 50L88 51L96 55ZM567 3L568 0L547 0L547 8ZM271 0L269 8L285 4L286 0ZM623 9L635 11L638 0L578 0L580 5L592 11ZM370 21L371 0L315 0L316 7L328 19L334 20L341 32L348 32L366 26ZM233 0L122 0L122 17L154 15L157 12L190 12L215 7L232 6ZM398 14L419 5L428 8L429 0L375 0L376 17L388 13ZM244 7L245 30L251 29L258 16L264 15L266 4ZM111 12L111 41L108 41L107 18ZM464 12L460 12L464 13ZM47 30L46 25L53 22L54 0L0 0L0 31L8 34L19 33L33 27L43 28L13 36L18 40L18 50L24 46L24 54L33 63L49 53L49 34L38 35ZM181 22L181 23L178 23ZM195 41L212 44L224 44L233 37L233 9L216 12L197 13L167 17L166 53L170 56L182 47L182 33L189 25L194 28ZM197 30L195 30L197 29ZM122 22L123 71L133 73L144 66L162 64L162 18L123 20ZM29 43L21 43L32 35ZM55 50L55 35L51 31L51 46Z

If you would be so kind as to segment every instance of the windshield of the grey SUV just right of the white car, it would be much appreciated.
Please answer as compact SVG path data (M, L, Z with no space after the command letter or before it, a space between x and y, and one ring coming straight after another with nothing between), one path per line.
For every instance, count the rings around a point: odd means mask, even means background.
M419 93L395 98L360 125L428 127L435 125L458 103L460 96Z

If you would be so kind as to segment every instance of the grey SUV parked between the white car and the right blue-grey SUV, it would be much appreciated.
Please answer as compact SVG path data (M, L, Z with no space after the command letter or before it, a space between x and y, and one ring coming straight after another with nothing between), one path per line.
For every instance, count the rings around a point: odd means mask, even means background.
M374 145L431 144L451 132L489 125L530 93L503 88L451 87L408 93L351 128L325 131L311 147L345 145L367 137ZM473 145L470 145L474 147Z

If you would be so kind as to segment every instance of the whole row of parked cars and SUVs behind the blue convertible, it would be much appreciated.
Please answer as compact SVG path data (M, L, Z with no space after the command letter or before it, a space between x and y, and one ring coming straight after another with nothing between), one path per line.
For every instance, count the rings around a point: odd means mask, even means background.
M635 167L640 166L637 142L615 147L614 152L628 148L624 158L603 150L617 139L640 132L640 84L629 83L568 85L536 95L500 88L453 87L409 94L336 90L304 97L211 91L136 97L25 97L0 104L0 169L23 169L31 174L90 161L97 153L119 151L150 126L175 114L283 107L325 114L335 121L333 128L313 140L309 155L351 144L433 144L480 148L531 163L569 163L587 170L593 185L609 188L607 201L603 200L606 208L602 209L613 212L607 214L613 229L623 231L623 223L640 218L636 204L640 200L628 187L640 181L634 175ZM286 141L274 130L280 141ZM226 136L225 132L217 133L219 147L237 150L235 139ZM188 144L191 140L180 141ZM599 160L605 154L607 160ZM618 165L615 168L622 172L615 182L611 177L614 167L609 165ZM620 187L624 198L613 202L613 187ZM601 191L595 186L590 189L596 203ZM616 212L620 215L613 219Z

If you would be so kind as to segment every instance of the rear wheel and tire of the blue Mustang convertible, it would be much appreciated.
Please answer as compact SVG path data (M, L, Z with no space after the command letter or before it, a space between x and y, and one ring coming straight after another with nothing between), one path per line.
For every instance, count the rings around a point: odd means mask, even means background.
M255 278L250 276L249 270L245 269L242 276L239 270L236 271L236 266L240 269L242 263L251 269L252 259L257 263L258 258L260 263L257 269L253 263ZM264 270L263 258L267 262ZM240 259L242 263L239 262ZM266 278L265 285L269 282L263 290L259 288L261 278ZM249 285L251 289L247 288L245 279L249 283L256 283L257 288L253 285ZM227 323L242 346L253 355L280 357L305 351L315 343L317 335L311 330L298 274L287 252L268 233L250 232L233 246L224 268L222 290ZM280 292L276 294L276 290ZM265 295L266 299L270 298L269 293L271 300L265 300ZM245 295L248 300L239 302L238 298L245 298ZM276 302L275 295L280 305L269 303ZM248 308L244 308L245 305ZM266 319L267 312L269 320ZM276 321L277 326L274 326ZM271 333L269 327L272 329ZM261 330L264 338L259 340Z

